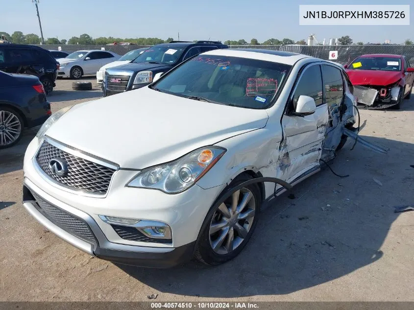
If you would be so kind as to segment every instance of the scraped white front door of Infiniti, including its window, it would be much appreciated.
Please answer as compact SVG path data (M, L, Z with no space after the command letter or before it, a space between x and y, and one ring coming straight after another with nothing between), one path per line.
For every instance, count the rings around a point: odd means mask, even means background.
M304 117L292 115L300 95L315 99L317 109L314 114ZM319 167L328 119L320 65L310 64L300 73L282 117L284 140L279 148L278 178L291 183L303 173Z

